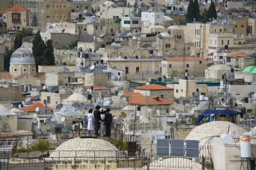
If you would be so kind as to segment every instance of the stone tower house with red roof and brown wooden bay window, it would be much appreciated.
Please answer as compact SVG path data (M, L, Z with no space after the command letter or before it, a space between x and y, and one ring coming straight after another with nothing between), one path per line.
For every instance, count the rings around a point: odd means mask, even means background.
M29 26L29 11L19 5L6 9L7 28L18 30L21 27Z

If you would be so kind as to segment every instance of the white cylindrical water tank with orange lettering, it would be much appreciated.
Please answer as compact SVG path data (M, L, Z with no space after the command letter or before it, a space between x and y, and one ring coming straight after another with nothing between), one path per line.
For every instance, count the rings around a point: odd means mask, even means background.
M240 136L240 148L241 148L241 158L251 158L252 157L249 135L241 135Z

